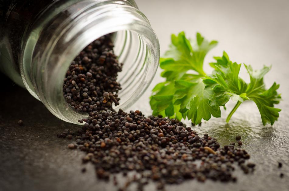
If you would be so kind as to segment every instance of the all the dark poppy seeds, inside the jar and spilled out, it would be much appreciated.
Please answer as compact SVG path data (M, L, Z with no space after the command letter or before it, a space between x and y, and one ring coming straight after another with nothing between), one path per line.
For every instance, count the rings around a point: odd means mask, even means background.
M111 36L106 35L87 46L71 63L64 79L64 99L88 118L77 130L65 129L61 138L75 138L68 148L87 153L84 163L92 162L99 179L110 179L111 174L136 174L119 185L126 190L137 183L142 190L150 180L157 181L157 189L165 184L179 184L185 179L206 179L222 182L236 181L232 176L238 164L244 173L255 164L246 163L250 155L241 148L241 136L235 143L223 147L208 134L198 135L181 121L162 116L145 117L141 111L115 111L121 89L117 73L122 69L113 53ZM85 172L85 169L83 170Z

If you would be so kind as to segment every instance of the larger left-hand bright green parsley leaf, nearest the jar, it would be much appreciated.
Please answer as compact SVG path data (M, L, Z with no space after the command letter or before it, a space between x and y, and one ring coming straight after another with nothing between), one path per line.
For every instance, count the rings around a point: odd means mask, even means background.
M204 89L202 82L204 58L209 50L217 45L217 41L207 41L197 33L196 40L190 41L184 32L172 35L172 44L160 59L161 74L166 78L153 89L150 104L154 115L171 118L186 118L199 124L201 119L209 120L211 114L220 117L221 111L216 103L210 101L213 91ZM197 72L187 74L189 70Z

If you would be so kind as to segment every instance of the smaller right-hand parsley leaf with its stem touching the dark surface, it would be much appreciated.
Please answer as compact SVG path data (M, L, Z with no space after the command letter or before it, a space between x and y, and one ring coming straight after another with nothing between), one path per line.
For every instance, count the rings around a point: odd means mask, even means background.
M279 85L274 83L268 90L263 82L264 75L269 72L270 67L264 66L261 70L253 71L251 66L245 65L249 75L250 83L246 84L239 77L241 64L233 63L229 60L227 53L223 53L222 57L215 57L216 63L211 63L215 69L215 74L206 76L204 83L206 90L214 91L214 100L220 105L225 105L229 98L238 101L227 118L227 122L232 114L245 100L252 100L256 103L263 125L269 123L271 125L278 119L281 110L274 108L274 104L278 104L281 96L277 93Z

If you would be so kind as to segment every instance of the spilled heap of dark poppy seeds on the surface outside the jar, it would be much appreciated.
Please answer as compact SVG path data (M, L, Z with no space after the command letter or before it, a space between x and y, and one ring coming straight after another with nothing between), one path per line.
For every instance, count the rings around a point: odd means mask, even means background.
M236 181L232 176L234 163L245 173L255 166L245 164L250 156L239 146L220 147L215 138L208 134L200 136L175 119L153 115L146 118L138 110L126 113L105 109L90 112L83 121L82 128L67 129L59 136L75 137L75 143L68 148L86 152L83 162L92 162L100 179L134 170L141 174L136 182L152 179L178 184L193 178L228 182Z

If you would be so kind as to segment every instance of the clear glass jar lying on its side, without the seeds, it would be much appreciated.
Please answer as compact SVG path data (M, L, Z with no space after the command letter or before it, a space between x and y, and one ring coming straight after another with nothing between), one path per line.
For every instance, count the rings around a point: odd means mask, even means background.
M158 68L158 38L133 0L12 2L0 13L0 69L58 118L79 124L87 117L64 100L63 79L75 56L108 33L124 63L115 109L126 110L151 83Z

